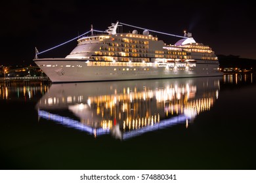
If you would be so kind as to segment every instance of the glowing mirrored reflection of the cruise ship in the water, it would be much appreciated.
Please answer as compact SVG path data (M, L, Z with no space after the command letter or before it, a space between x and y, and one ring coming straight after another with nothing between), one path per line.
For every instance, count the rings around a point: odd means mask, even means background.
M188 127L218 99L223 77L53 84L39 118L127 140L175 124Z

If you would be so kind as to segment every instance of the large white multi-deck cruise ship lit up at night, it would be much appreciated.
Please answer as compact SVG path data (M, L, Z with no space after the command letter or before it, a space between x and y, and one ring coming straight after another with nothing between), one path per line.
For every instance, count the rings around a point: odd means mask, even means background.
M165 42L144 29L118 33L121 22L106 31L77 39L77 46L66 58L38 58L35 63L57 82L138 80L221 76L215 52L185 33L175 44Z

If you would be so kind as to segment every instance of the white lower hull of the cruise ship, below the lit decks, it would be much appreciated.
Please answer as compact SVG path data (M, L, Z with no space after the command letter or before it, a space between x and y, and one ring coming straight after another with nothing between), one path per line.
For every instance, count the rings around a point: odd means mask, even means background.
M89 82L106 80L138 80L153 78L184 78L199 76L222 76L219 62L197 61L196 67L169 67L158 63L144 63L144 66L116 63L93 65L87 59L34 59L40 69L56 82ZM100 62L99 62L100 63Z

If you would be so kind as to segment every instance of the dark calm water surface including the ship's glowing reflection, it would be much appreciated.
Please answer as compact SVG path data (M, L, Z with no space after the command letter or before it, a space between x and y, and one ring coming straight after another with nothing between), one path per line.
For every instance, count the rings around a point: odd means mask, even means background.
M255 83L1 84L1 169L255 169Z

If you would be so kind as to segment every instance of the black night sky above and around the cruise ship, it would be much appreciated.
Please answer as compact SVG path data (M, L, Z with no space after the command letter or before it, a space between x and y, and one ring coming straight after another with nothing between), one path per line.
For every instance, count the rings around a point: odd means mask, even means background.
M89 31L91 24L104 31L117 20L175 35L183 35L186 29L197 42L211 46L215 54L256 59L253 1L231 2L5 1L0 7L0 65L34 64L35 46L41 52ZM167 44L178 40L157 36ZM72 41L39 58L65 57L75 45Z

